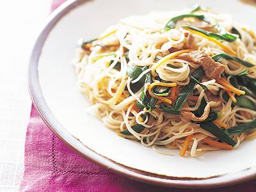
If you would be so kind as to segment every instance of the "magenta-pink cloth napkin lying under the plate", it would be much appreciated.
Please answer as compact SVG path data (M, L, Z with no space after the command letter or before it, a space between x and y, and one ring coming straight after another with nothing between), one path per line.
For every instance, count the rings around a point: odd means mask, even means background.
M52 8L63 3L53 1ZM256 181L217 189L173 189L153 186L100 168L70 150L31 108L20 191L256 191Z

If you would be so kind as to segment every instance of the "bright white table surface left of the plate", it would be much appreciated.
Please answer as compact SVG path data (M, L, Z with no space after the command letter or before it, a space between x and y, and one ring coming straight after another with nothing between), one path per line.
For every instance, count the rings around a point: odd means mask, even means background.
M51 0L0 1L0 191L19 191L31 100L29 55Z

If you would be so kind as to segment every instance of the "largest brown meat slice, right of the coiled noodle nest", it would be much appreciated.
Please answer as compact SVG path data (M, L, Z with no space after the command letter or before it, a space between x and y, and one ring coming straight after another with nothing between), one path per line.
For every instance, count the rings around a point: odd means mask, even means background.
M222 74L226 68L225 65L212 60L205 51L191 51L189 53L181 54L180 56L177 56L177 58L199 63L204 68L205 75L209 79L220 77L220 74Z

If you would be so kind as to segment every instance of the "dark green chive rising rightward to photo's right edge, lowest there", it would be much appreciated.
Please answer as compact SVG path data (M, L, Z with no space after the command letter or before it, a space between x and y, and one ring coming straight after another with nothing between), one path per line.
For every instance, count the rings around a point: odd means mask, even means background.
M232 135L232 134L237 134L241 132L252 131L253 129L256 129L256 119L252 120L252 122L239 124L234 127L230 127L229 129L225 129L225 133L228 135Z

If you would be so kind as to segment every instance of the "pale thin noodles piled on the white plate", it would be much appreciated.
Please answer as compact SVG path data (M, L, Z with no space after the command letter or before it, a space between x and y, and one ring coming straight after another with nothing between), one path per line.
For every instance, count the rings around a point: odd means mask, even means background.
M199 67L196 63L172 58L156 68L156 56L159 52L165 47L184 42L184 28L164 30L170 18L182 13L184 12L153 12L145 16L130 16L122 19L118 24L104 31L92 43L90 51L78 48L72 64L76 69L79 90L93 104L90 111L93 111L106 127L115 131L119 136L151 146L161 154L172 154L172 150L169 153L161 150L161 147L181 149L187 136L193 135L188 143L186 154L196 157L209 150L219 150L220 148L212 147L203 141L207 137L216 141L218 139L202 129L196 122L184 120L179 115L164 113L159 109L159 102L152 111L143 109L138 111L136 102L141 102L141 90L137 93L131 91L132 83L138 82L147 72L151 72L154 82L159 82L156 78L159 76L164 81L176 83L179 88L191 81L189 74ZM234 42L221 42L221 44L236 52L238 58L256 65L256 41L255 36L248 33L250 29L233 22L227 14L211 10L200 10L200 14L215 20L227 31L235 26L241 38L237 38ZM193 22L197 20L193 19ZM193 45L195 50L204 50L209 56L225 52L223 48L204 36L196 34L193 36L195 37ZM127 51L129 52L128 63L124 54ZM226 66L225 74L229 76L227 81L230 76L238 75L246 70L246 67L232 60L224 60L221 63ZM120 70L115 68L116 65L120 65ZM147 66L148 70L145 70L137 79L131 79L127 76L129 65ZM173 65L179 68L170 67ZM248 68L248 77L255 79L255 70L255 67ZM209 91L222 98L225 88L217 83L216 79L207 79L203 84ZM198 84L194 88L193 95L198 99L188 100L184 106L189 111L198 109L203 98L209 102L205 90ZM246 97L256 104L253 97ZM230 98L227 102L223 99L216 111L218 111L218 120L226 124L227 129L237 124L250 122L256 116L256 111L232 105ZM145 120L141 120L143 114L147 114ZM134 124L141 124L145 129L138 133L131 128ZM131 136L121 134L126 129L131 132ZM237 148L242 141L255 137L256 131L231 136L237 143L234 148Z

